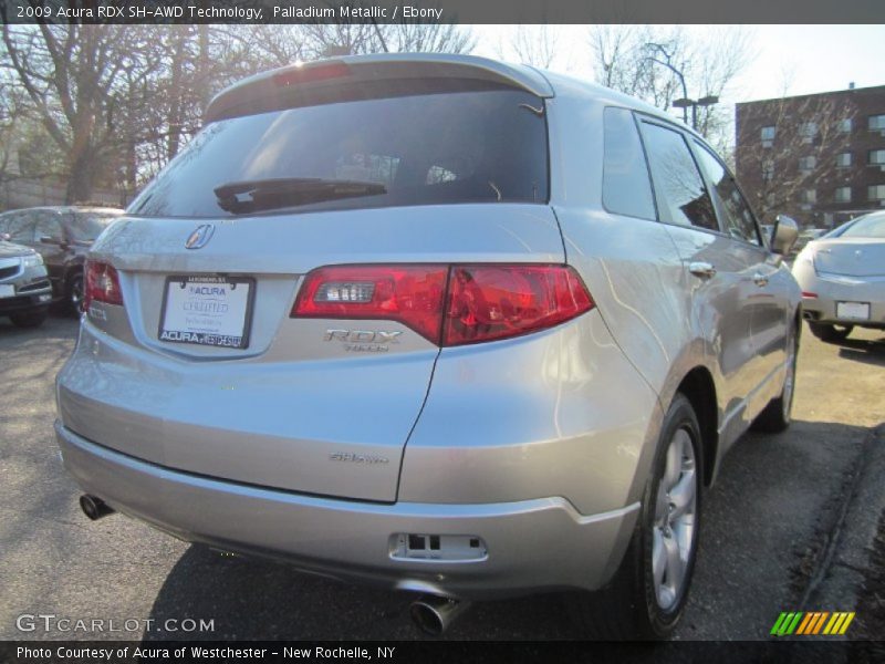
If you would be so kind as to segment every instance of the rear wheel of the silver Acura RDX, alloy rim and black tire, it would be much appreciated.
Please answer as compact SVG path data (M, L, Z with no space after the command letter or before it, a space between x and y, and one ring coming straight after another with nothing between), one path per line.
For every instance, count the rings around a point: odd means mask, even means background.
M571 602L586 634L660 640L678 624L698 549L704 477L700 440L695 409L677 394L664 418L652 477L620 569L603 590L581 593ZM677 487L681 487L678 494L673 491Z

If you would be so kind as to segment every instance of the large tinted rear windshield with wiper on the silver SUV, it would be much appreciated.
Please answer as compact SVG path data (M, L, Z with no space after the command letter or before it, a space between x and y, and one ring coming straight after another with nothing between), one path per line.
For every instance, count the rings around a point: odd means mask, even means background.
M361 100L212 123L128 211L223 217L546 200L543 101L491 90Z

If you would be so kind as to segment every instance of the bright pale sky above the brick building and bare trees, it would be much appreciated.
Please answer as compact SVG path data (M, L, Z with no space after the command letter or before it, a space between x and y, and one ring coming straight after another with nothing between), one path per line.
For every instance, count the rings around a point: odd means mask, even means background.
M593 77L586 25L552 27L563 56L551 69ZM689 25L702 35L723 25ZM497 44L514 25L476 25L478 55L498 56ZM784 80L790 94L885 85L885 25L748 25L752 61L722 103L781 96ZM689 91L689 94L690 91Z

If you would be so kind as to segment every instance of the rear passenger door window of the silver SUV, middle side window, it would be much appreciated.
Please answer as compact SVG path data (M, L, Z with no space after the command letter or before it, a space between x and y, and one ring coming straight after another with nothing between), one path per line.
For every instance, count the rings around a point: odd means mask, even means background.
M710 195L683 134L649 122L642 124L662 219L719 230Z

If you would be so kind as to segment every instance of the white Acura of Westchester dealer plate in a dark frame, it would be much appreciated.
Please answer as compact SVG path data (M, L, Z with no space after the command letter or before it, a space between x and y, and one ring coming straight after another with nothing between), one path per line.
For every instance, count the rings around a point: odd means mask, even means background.
M254 290L248 277L167 277L159 340L248 347Z

